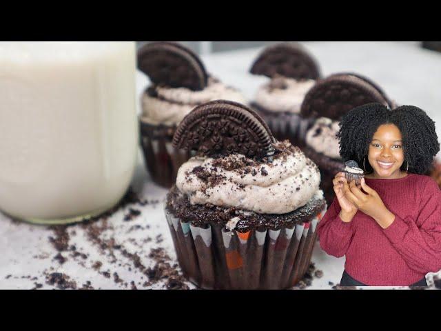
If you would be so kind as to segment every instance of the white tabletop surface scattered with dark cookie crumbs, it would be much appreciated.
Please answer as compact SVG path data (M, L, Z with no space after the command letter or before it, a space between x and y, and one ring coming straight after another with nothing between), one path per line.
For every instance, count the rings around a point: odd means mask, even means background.
M332 72L351 71L365 74L376 81L400 104L411 104L419 106L427 111L435 122L441 122L441 114L438 107L441 105L441 54L413 48L402 43L308 43L307 48L320 62L323 74ZM232 86L242 88L245 95L252 99L258 86L265 81L264 77L253 77L247 73L252 61L258 54L257 49L243 50L237 52L224 52L220 54L209 54L203 57L203 61L209 72L229 83ZM139 94L145 88L147 79L141 73L137 74L137 87ZM441 124L437 128L440 135ZM140 154L141 155L141 154ZM163 201L166 190L158 188L150 181L150 178L139 161L139 166L133 181L133 187L139 192L143 199L159 199ZM130 208L127 207L127 208ZM174 254L172 239L167 228L167 222L163 215L161 203L158 205L145 205L140 217L134 221L123 222L123 215L127 212L120 210L112 215L109 224L114 227L114 237L119 243L124 243L130 252L138 252L141 261L146 266L152 265L147 257L150 248L156 247L154 241L143 243L147 237L155 238L162 234L164 241L160 244L165 248L173 259ZM130 232L133 225L150 225L150 229ZM48 237L53 235L45 227L35 227L25 223L13 223L7 217L0 214L0 288L32 288L34 281L21 279L21 276L37 276L37 282L43 283L43 288L50 288L44 284L44 277L41 272L52 266L54 271L65 272L74 279L79 287L85 281L91 281L94 288L121 288L112 279L106 279L101 274L90 268L90 265L99 259L103 261L101 270L107 270L106 257L103 257L95 245L85 240L84 231L80 226L69 228L69 232L75 231L76 236L72 237L72 243L76 244L79 250L89 254L83 263L77 263L74 259L68 259L63 265L53 261L57 252L52 248ZM42 259L34 259L32 256L40 255ZM107 262L106 262L107 261ZM309 289L331 289L328 284L340 281L344 268L344 258L336 259L322 252L318 245L314 250L312 261L316 268L324 272L321 279L314 279ZM119 276L125 281L135 281L136 285L146 280L139 272L128 270L127 265L121 267L112 266L112 270L118 269ZM13 276L6 279L12 274ZM143 277L143 278L141 278ZM429 281L431 275L429 275ZM142 286L138 286L142 288ZM160 288L161 284L156 285ZM124 287L123 287L124 288ZM194 288L192 286L192 288ZM369 288L372 289L372 288Z

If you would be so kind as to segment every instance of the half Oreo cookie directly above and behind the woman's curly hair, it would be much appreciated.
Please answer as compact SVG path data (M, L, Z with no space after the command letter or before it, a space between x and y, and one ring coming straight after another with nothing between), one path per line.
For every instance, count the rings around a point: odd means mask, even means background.
M369 79L358 74L333 74L319 80L303 100L300 115L305 118L327 117L340 121L349 110L378 102L391 107L386 94Z

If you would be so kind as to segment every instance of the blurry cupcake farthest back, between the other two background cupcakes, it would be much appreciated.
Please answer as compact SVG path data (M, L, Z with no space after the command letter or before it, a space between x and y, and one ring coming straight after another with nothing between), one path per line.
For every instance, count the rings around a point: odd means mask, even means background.
M316 60L298 43L279 43L266 48L250 72L271 79L258 89L252 108L268 123L276 139L289 139L301 147L298 136L305 136L309 123L300 117L300 106L320 78Z

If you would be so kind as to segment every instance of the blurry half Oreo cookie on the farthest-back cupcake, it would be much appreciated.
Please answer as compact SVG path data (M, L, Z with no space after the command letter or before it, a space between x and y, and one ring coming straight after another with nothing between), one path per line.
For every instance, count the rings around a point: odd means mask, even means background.
M266 48L249 71L269 78L278 75L298 80L320 78L316 60L300 44L292 42Z

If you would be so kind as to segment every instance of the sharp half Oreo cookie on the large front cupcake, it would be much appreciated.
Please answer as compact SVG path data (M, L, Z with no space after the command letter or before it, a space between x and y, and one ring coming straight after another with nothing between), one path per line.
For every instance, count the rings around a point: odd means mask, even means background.
M174 134L173 146L208 157L244 154L258 159L274 154L275 141L256 112L240 103L216 100L187 114Z

